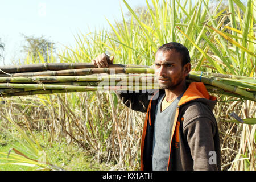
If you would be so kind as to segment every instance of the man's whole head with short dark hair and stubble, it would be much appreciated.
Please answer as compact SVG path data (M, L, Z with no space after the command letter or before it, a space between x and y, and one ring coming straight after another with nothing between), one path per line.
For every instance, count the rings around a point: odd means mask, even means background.
M159 47L155 55L155 75L161 89L175 90L183 86L190 70L189 51L185 46L171 42Z

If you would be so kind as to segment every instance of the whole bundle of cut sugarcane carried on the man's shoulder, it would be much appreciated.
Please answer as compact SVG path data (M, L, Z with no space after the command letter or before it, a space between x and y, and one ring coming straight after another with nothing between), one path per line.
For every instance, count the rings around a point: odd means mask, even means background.
M159 89L154 69L143 65L45 63L0 67L2 97L104 90ZM218 73L191 72L187 82L203 82L209 92L256 101L256 79Z

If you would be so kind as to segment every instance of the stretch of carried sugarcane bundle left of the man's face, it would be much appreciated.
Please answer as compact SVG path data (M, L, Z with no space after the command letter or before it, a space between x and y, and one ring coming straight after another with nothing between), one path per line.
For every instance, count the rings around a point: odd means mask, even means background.
M154 87L154 70L141 65L46 63L0 67L3 97L97 90L142 90ZM136 73L136 74L135 74Z

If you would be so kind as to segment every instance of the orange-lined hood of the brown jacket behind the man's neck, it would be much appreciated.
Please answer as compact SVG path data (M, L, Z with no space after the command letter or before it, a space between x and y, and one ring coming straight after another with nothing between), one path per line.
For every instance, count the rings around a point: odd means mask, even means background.
M178 106L180 107L193 101L203 102L213 110L216 105L217 98L210 96L203 82L192 82L181 97Z

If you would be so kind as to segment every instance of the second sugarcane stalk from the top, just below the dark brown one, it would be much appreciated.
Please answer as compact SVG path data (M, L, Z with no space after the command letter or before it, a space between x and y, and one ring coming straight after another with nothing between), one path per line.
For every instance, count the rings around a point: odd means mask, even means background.
M84 68L84 69L66 69L60 71L45 71L45 72L26 72L14 73L11 76L77 76L77 75L92 75L98 73L154 73L151 68ZM9 76L9 75L5 75Z

